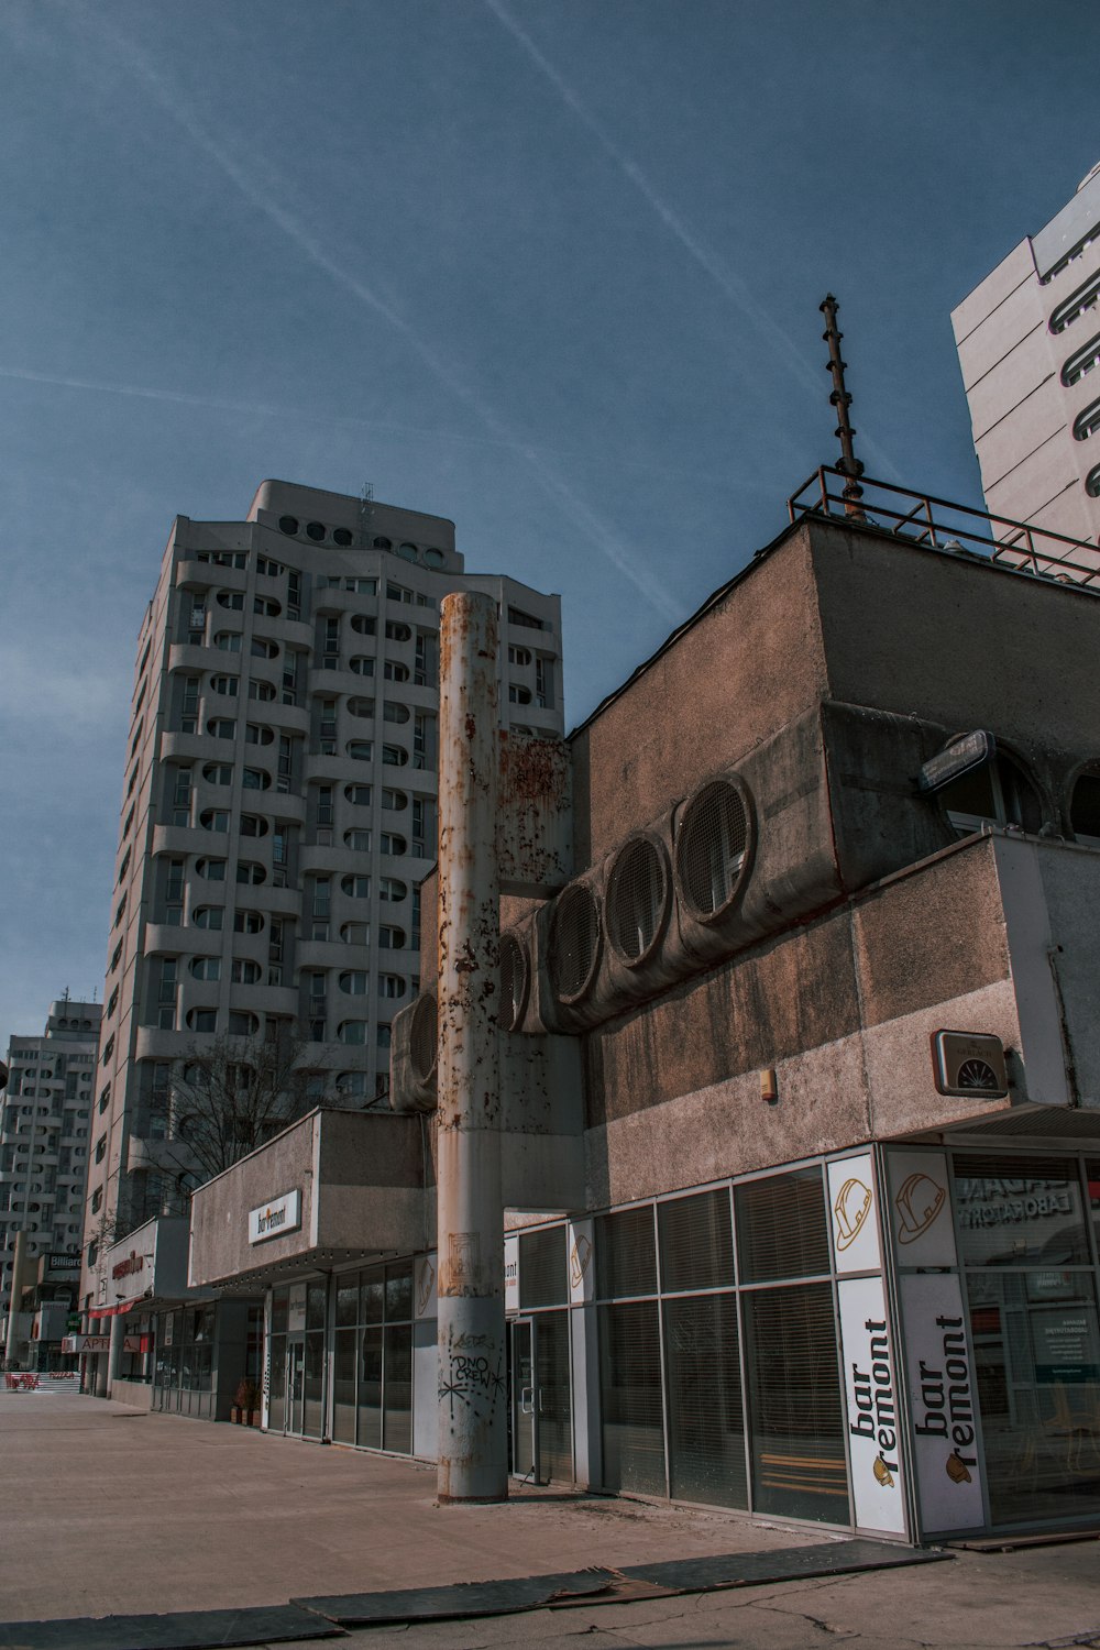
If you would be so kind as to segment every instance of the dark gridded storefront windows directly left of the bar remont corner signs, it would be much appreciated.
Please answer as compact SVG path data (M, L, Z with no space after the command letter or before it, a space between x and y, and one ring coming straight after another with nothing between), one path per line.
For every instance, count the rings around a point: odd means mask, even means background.
M599 1216L595 1267L602 1487L848 1525L821 1165Z

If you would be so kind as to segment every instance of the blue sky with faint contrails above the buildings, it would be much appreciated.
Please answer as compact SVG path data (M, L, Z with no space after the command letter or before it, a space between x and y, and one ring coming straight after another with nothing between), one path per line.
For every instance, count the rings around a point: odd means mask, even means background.
M1087 36L1092 36L1088 41ZM101 988L175 513L275 475L559 591L577 721L834 454L980 503L952 307L1100 158L1054 0L7 0L0 1038Z

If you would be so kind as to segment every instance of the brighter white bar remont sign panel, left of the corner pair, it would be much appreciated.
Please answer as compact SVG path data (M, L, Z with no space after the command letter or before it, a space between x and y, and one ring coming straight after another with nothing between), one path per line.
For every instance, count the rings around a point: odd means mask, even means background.
M886 1290L881 1277L846 1277L836 1290L856 1525L904 1536L900 1416Z

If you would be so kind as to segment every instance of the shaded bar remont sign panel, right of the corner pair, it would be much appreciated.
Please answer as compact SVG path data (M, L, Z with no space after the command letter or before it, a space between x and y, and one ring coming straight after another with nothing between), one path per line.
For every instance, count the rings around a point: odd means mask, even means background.
M985 1523L975 1363L955 1272L902 1274L905 1374L925 1534Z

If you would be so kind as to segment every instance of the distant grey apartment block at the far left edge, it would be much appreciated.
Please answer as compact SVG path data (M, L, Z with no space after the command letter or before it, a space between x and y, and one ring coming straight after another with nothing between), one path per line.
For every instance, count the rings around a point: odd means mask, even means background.
M61 1274L78 1254L89 1162L99 1003L58 998L41 1036L13 1036L0 1096L0 1353L8 1345L12 1294L40 1270ZM20 1234L23 1241L20 1244ZM16 1277L16 1261L21 1261ZM71 1264L64 1267L76 1284ZM31 1313L18 1313L13 1355L25 1356Z

